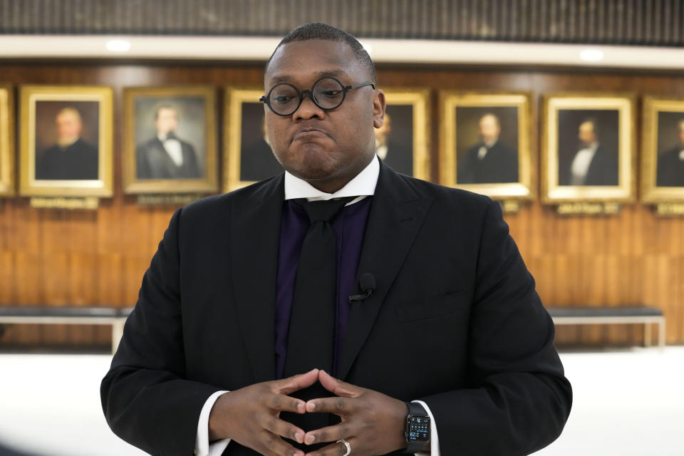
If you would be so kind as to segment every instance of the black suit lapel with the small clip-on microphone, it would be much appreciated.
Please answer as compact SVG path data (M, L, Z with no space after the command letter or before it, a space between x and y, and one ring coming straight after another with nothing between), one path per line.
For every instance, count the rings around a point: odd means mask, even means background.
M418 195L402 177L380 162L380 177L368 214L358 276L369 272L375 277L373 296L352 305L342 347L338 378L346 378L368 338L413 239L423 224L432 199Z

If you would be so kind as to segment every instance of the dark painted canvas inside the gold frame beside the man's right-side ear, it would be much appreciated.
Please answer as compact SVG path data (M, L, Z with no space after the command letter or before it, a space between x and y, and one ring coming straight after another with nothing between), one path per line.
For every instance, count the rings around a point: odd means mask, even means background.
M375 154L393 170L408 176L413 175L412 118L410 105L393 105L385 112L383 126L375 128Z

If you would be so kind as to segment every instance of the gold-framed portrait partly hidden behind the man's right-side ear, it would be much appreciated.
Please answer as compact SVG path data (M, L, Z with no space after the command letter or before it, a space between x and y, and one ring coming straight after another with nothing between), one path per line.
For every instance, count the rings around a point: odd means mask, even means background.
M375 129L375 153L396 172L430 180L430 90L383 88L385 122Z

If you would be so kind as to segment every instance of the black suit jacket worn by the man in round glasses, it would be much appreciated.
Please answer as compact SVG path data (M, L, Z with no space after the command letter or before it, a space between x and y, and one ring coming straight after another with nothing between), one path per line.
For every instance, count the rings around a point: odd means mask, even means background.
M172 217L102 383L124 440L192 454L209 395L275 378L283 176ZM445 456L527 454L559 435L571 388L554 325L496 202L381 165L365 272L375 294L353 306L339 378L425 400Z

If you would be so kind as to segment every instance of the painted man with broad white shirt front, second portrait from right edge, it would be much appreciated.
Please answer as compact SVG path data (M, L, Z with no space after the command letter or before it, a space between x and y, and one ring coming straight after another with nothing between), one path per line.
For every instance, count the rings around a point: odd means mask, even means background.
M583 120L578 136L579 150L559 172L559 185L618 185L618 154L601 145L596 119Z

